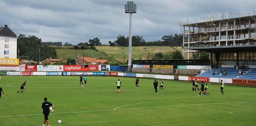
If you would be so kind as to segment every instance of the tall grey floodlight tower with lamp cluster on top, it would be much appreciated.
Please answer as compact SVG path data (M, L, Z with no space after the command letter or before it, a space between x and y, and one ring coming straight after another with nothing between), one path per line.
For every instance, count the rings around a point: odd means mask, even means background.
M130 13L128 71L132 71L132 13L137 13L137 6L133 1L127 1L127 4L125 4L125 13Z

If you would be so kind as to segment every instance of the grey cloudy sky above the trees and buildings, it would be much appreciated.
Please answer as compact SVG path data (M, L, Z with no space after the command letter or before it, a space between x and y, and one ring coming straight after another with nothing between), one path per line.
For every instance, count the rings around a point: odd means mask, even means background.
M35 35L42 41L77 44L98 37L102 44L119 34L129 35L127 0L0 0L0 26L17 35ZM217 17L218 13L247 13L256 0L135 0L133 35L146 41L181 33L178 19Z

